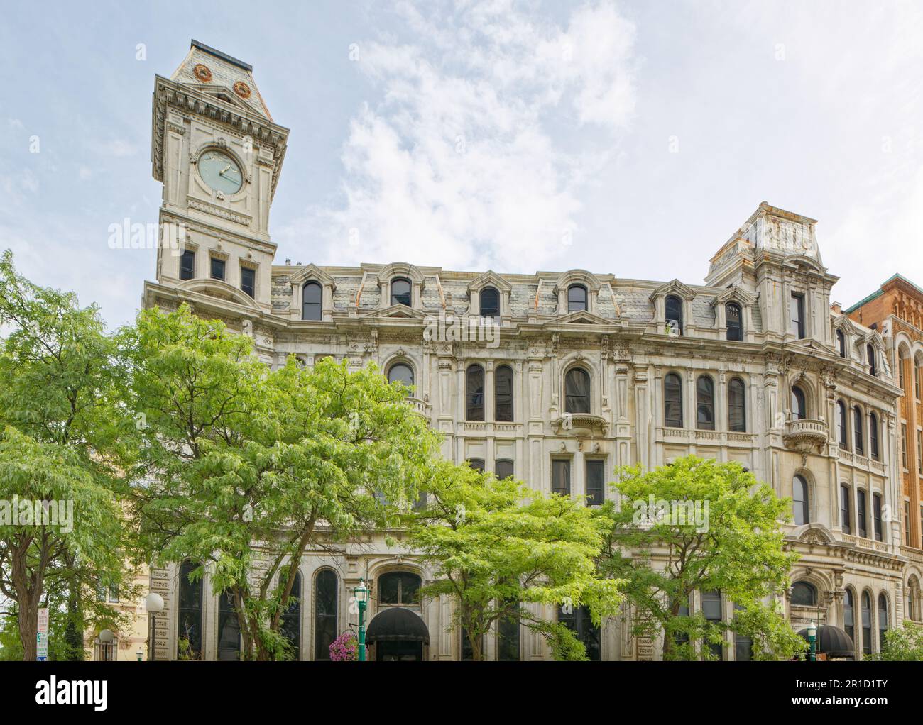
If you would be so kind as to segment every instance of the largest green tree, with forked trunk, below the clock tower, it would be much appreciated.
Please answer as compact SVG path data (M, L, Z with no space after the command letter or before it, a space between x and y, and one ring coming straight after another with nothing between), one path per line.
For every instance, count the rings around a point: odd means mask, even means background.
M141 312L122 344L142 422L126 461L140 540L160 563L198 562L193 578L209 567L234 602L244 659L284 658L282 614L306 549L413 501L438 435L373 366L308 370L291 357L270 371L250 338L186 306Z

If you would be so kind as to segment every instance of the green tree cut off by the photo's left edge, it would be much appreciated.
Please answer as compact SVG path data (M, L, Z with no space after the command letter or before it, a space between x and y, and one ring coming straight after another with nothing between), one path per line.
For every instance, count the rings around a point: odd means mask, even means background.
M34 660L42 599L75 565L114 584L126 576L111 462L121 446L117 366L98 310L21 277L8 251L0 327L0 593L17 602L23 659ZM69 588L75 615L88 596Z

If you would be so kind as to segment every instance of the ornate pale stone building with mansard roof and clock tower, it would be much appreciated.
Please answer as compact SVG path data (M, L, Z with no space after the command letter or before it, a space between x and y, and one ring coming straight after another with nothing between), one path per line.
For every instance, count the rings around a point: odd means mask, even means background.
M288 134L250 66L201 43L172 77L156 77L164 242L145 306L188 303L220 318L270 366L288 355L309 366L328 355L355 368L375 362L414 386L411 404L443 434L445 456L590 505L612 495L605 481L619 465L739 461L794 500L793 626L843 627L858 656L909 615L890 341L832 310L837 278L821 261L815 220L760 204L716 244L704 284L583 269L280 265L269 215ZM172 244L177 228L182 244ZM166 600L156 656L176 658L185 632L204 659L235 659L227 602L208 576L189 585L182 568L151 576ZM429 576L377 535L311 553L286 623L301 659L324 659L330 637L356 623L349 598L360 577L373 587L373 624L409 608L425 625L426 642L377 645L372 658L464 659L453 602L414 600ZM733 602L703 592L690 609L729 618ZM582 611L543 613L564 617L593 659L658 657L657 642L629 634L630 612L602 631ZM485 654L550 658L525 630L488 637ZM746 659L748 643L728 636L721 654Z

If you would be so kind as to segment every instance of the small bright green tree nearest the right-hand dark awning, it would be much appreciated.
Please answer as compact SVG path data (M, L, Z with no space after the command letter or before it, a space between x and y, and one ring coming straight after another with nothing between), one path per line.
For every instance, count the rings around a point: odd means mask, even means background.
M803 648L782 613L764 603L787 586L797 559L783 546L788 499L738 463L712 458L617 475L619 502L597 514L608 522L599 569L626 580L636 634L662 637L665 660L712 659L727 629L750 636L757 659L788 660ZM733 620L689 614L697 590L733 600ZM697 652L697 643L706 647Z

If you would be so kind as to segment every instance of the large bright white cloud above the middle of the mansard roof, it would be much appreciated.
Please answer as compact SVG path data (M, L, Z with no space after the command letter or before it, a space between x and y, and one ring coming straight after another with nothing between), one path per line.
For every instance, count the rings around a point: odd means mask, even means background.
M382 101L350 125L342 202L280 237L309 239L321 262L541 268L633 113L634 28L609 3L566 27L504 0L423 7L400 6L413 44L361 44ZM566 150L562 124L581 130Z

